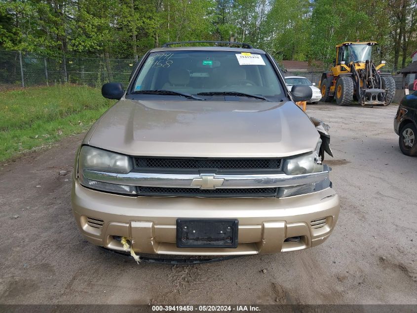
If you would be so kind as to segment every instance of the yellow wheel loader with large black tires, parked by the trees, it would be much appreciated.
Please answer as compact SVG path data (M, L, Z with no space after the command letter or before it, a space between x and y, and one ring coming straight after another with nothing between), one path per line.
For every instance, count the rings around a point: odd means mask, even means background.
M372 62L372 48L376 45L376 42L346 42L336 46L334 66L321 75L319 82L321 101L330 102L335 98L339 105L349 105L352 100L361 105L392 102L395 81L391 74L379 71L385 61L378 66Z

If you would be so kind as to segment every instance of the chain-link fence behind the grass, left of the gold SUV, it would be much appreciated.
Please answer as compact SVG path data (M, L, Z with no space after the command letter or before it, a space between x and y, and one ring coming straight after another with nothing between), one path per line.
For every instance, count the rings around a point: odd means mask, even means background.
M66 82L93 87L110 81L127 84L135 64L134 58L50 58L34 53L0 51L0 89Z

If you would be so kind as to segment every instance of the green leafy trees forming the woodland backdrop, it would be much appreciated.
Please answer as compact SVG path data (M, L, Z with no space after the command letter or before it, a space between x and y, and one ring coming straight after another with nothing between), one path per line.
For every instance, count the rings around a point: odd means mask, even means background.
M417 0L3 0L0 48L61 57L136 57L169 41L247 42L277 59L335 58L377 41L405 66L417 48ZM110 73L109 68L109 73Z

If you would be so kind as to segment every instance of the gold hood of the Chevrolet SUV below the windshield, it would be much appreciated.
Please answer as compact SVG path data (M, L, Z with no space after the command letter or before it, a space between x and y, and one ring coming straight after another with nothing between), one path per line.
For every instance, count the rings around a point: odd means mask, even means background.
M314 150L318 139L291 101L121 99L83 143L135 156L285 157Z

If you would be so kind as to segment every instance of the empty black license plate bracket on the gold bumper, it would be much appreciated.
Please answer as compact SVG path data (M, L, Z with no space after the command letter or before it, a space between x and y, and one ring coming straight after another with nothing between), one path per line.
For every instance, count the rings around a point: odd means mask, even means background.
M178 248L236 248L238 220L178 219Z

